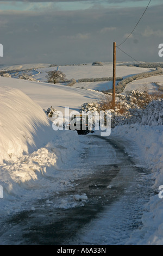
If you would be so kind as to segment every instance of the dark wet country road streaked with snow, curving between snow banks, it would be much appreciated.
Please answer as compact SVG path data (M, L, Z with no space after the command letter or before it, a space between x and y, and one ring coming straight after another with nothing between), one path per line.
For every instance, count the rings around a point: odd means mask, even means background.
M132 146L122 138L89 135L87 143L79 159L83 167L76 168L88 174L1 223L1 245L134 243L130 237L141 227L151 194L149 172L130 156Z

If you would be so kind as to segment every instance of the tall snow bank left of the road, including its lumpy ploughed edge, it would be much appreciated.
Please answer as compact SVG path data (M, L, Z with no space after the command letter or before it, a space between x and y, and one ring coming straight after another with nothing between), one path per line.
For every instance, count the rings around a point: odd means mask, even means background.
M73 164L85 144L76 131L54 131L43 109L18 89L0 87L0 106L2 215L71 185L82 175Z

